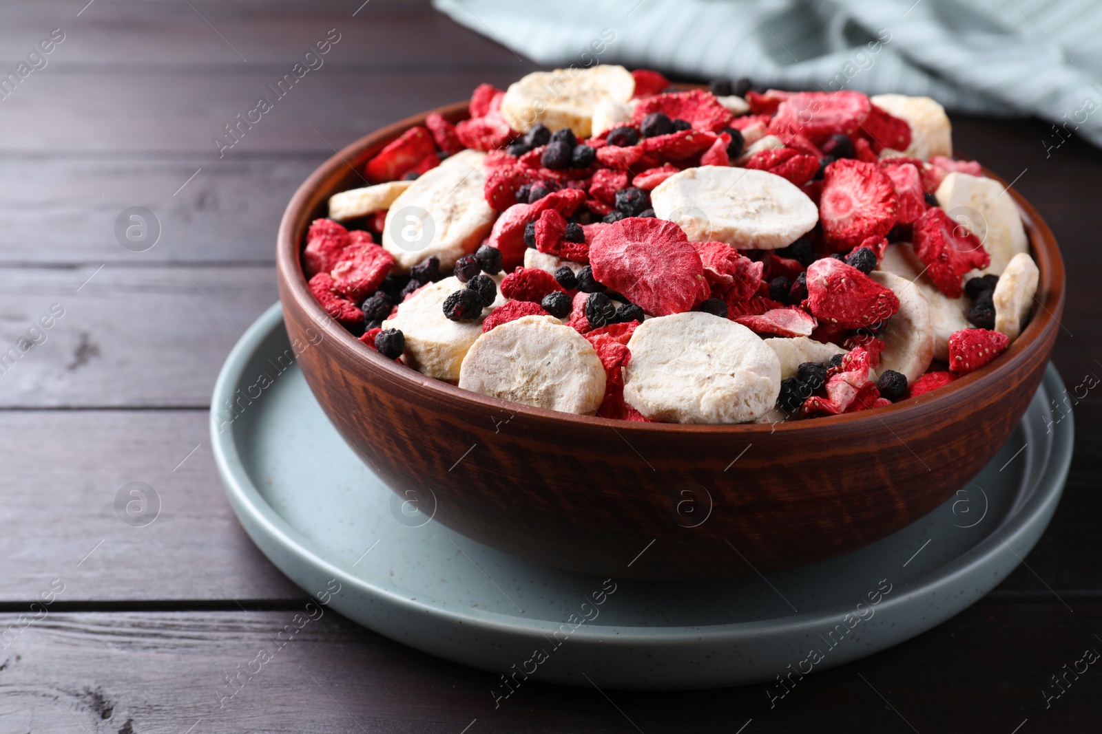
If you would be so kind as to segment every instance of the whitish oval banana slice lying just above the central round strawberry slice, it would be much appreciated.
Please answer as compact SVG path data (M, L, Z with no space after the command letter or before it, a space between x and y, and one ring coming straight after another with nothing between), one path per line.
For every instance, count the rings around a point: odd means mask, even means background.
M659 184L650 202L693 242L744 249L788 247L819 220L819 208L798 187L753 168L687 168Z

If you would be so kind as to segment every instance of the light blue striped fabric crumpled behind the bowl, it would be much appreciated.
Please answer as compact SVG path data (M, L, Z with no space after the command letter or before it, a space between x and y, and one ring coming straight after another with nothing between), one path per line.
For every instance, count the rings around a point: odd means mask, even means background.
M592 64L604 31L602 63L928 95L955 111L1036 114L1102 145L1102 0L434 3L540 64ZM1054 131L1038 144L1059 141Z

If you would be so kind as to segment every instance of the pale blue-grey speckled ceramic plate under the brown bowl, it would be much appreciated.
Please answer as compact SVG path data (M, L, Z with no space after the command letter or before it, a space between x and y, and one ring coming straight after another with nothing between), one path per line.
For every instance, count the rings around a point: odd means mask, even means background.
M522 561L432 522L431 497L391 492L345 445L291 358L277 304L215 387L215 458L245 529L350 620L501 673L500 697L526 676L641 689L765 681L914 637L986 594L1029 552L1059 501L1074 432L1070 415L1057 423L1049 409L1063 394L1049 366L994 461L875 545L735 580L606 580Z

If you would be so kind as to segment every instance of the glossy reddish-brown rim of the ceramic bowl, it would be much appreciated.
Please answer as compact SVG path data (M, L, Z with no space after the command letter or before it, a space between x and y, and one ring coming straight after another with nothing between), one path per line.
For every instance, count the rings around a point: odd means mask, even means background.
M979 370L960 376L952 383L936 391L883 407L833 416L818 416L813 420L785 419L771 424L672 424L641 423L604 418L597 415L588 416L561 413L489 397L462 390L456 385L441 380L428 377L412 368L386 359L364 344L317 304L310 293L305 274L302 271L299 242L309 226L310 216L315 207L323 199L327 200L328 196L336 193L332 191L322 196L320 194L321 189L341 176L347 175L344 169L352 169L363 178L358 166L361 166L370 155L377 153L385 144L401 135L409 128L423 124L425 117L432 113L439 113L453 121L463 119L467 114L467 101L453 102L410 116L375 132L363 135L342 150L336 151L314 169L295 190L283 212L277 235L276 269L279 278L282 281L282 285L285 286L285 288L281 288L281 297L291 297L302 313L313 321L312 326L321 329L326 337L334 339L337 349L343 350L354 360L360 360L365 369L388 373L390 379L406 382L412 388L428 390L430 393L435 393L440 398L460 401L466 403L468 407L488 407L496 410L505 410L510 416L527 416L541 420L551 419L579 425L580 427L613 427L615 430L626 430L631 434L674 432L755 436L776 431L808 430L809 428L830 429L842 426L852 427L854 421L871 420L872 418L876 418L884 424L885 417L894 418L908 412L914 412L917 415L921 413L917 408L927 407L931 402L940 402L954 395L959 401L964 399L969 395L979 393L988 384L1008 379L1014 372L1024 369L1025 363L1030 357L1030 348L1041 341L1042 335L1056 328L1063 328L1063 325L1060 324L1056 316L1062 311L1065 300L1063 259L1060 255L1056 238L1037 210L1018 191L1009 186L1005 179L983 167L985 176L1003 184L1005 193L1012 197L1022 216L1023 224L1029 239L1029 253L1040 271L1037 295L1034 296L1036 307L1034 308L1034 315L1029 320L1029 325L1011 343L1009 348L1000 355L1001 359L996 359ZM364 183L368 185L366 179Z

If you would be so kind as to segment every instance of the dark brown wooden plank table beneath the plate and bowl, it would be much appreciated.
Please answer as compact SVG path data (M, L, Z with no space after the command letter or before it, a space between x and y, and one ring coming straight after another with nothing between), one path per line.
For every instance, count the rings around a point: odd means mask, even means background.
M19 354L0 369L0 732L1099 730L1102 671L1069 677L1049 706L1041 694L1102 651L1098 391L1076 408L1071 476L1028 568L773 710L760 686L538 683L495 710L489 673L335 613L220 706L225 677L305 601L238 525L207 438L215 375L277 298L283 206L334 146L534 66L423 2L85 1L0 8L4 73L64 33L0 100L0 352ZM324 66L219 157L212 139L331 29ZM1046 155L1038 121L954 123L958 149L1015 180L1063 248L1069 388L1102 374L1102 152L1071 140ZM136 206L160 222L144 252L115 232ZM51 308L63 316L29 331ZM161 502L145 527L116 513L134 481Z

